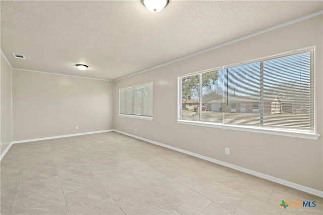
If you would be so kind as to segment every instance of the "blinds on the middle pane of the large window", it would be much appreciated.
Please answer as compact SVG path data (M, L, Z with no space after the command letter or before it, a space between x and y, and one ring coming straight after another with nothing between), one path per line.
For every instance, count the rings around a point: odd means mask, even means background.
M225 68L224 92L225 124L259 124L260 62Z

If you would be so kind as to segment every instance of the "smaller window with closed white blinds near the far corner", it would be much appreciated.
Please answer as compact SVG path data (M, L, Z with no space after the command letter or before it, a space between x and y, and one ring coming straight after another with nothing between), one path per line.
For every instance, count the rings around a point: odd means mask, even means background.
M152 83L119 89L119 116L152 117Z

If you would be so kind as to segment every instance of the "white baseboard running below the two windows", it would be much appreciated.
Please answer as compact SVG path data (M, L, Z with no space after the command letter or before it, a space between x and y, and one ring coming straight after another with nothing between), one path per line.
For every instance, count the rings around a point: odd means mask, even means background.
M169 148L169 149L172 149L172 150L175 150L175 151L179 151L179 152L194 156L194 157L198 157L198 158L207 160L209 162L212 162L214 164L219 164L219 165L222 165L222 166L234 169L234 170L238 170L240 172L244 172L244 173L247 173L247 174L250 174L250 175L253 175L253 176L257 176L259 178L266 179L268 181L272 181L272 182L275 182L275 183L278 183L278 184L285 185L287 187L291 187L291 188L294 188L294 189L297 189L297 190L301 190L303 192L310 193L310 194L315 195L315 196L323 197L323 191L320 191L320 190L316 190L316 189L313 189L313 188L310 188L310 187L306 187L306 186L296 184L296 183L293 183L293 182L290 182L290 181L286 181L286 180L283 180L283 179L280 179L280 178L276 178L276 177L273 177L273 176L270 176L270 175L259 173L259 172L253 171L253 170L249 170L249 169L246 169L246 168L243 168L243 167L239 167L239 166L236 166L236 165L233 165L233 164L223 162L223 161L218 160L218 159L214 159L214 158L211 158L211 157L200 155L200 154L197 154L197 153L194 153L194 152L191 152L191 151L186 151L184 149L176 148L174 146L159 143L159 142L149 140L149 139L146 139L146 138L143 138L143 137L139 137L139 136L136 136L136 135L133 135L133 134L128 134L126 132L122 132L122 131L119 131L119 130L114 130L114 131L118 132L118 133L121 133L121 134L124 134L124 135L127 135L127 136L130 136L130 137L134 137L134 138L137 138L137 139L140 139L140 140L144 140L146 142L149 142L149 143L152 143L152 144L155 144L155 145L159 145L159 146L162 146L162 147L165 147L165 148Z

